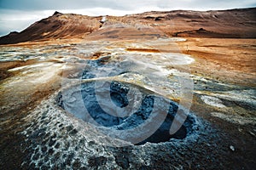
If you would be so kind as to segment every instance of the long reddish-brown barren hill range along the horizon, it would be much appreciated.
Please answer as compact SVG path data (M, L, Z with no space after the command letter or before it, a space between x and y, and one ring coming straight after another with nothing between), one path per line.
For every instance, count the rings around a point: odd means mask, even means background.
M123 25L123 26L120 26ZM125 29L124 29L124 26ZM145 34L139 31L143 26ZM120 31L121 30L121 31ZM140 32L140 33L139 33ZM137 36L140 34L139 36ZM24 31L0 37L0 44L44 41L57 38L117 37L256 37L256 8L216 11L151 11L125 16L90 17L55 12Z

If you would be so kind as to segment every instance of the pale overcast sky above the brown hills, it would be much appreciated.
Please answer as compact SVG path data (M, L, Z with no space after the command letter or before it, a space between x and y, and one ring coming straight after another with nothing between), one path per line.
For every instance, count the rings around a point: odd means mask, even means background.
M251 7L256 7L256 0L0 0L0 36L9 31L22 31L55 10L87 15L125 15L152 10Z

